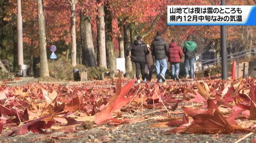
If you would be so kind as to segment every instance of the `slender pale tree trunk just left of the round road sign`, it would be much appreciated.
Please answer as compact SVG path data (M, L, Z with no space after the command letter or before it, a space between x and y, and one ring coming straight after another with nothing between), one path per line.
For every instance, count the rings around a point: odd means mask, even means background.
M45 37L45 18L43 15L42 0L37 0L38 6L38 33L39 33L39 50L40 50L40 76L48 77L49 69L47 63L47 53L46 53L46 37Z

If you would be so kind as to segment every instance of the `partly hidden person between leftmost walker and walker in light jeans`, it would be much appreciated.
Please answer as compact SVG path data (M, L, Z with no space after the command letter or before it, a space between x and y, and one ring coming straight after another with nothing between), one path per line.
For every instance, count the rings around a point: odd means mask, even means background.
M154 65L154 57L151 55L152 52L148 44L147 44L147 48L149 53L148 55L146 55L145 81L151 81L155 65Z

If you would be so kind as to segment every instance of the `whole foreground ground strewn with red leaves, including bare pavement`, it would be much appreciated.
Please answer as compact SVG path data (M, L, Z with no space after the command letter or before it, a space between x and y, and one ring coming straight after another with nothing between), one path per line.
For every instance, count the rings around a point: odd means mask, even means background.
M2 85L0 141L253 142L255 80Z

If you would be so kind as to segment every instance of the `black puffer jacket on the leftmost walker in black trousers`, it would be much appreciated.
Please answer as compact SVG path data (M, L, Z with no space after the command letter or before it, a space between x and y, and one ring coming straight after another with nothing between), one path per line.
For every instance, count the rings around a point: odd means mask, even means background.
M126 50L126 56L131 51L131 61L146 62L146 55L149 53L147 45L140 41L134 40L134 43Z

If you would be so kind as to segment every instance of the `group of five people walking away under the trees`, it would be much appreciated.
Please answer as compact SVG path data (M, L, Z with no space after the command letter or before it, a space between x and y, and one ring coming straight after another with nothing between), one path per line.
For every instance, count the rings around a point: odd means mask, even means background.
M142 41L142 37L136 37L133 44L126 50L126 56L130 56L131 61L135 62L137 83L140 81L140 72L142 77L142 83L151 81L153 70L156 70L157 82L165 82L165 73L167 70L167 60L170 62L170 71L172 79L179 81L180 62L184 59L184 68L186 72L185 79L189 77L194 79L194 61L196 52L196 43L192 40L192 35L189 35L185 42L183 49L176 44L175 39L171 40L168 44L165 39L162 38L162 32L157 31L151 46L145 44Z

